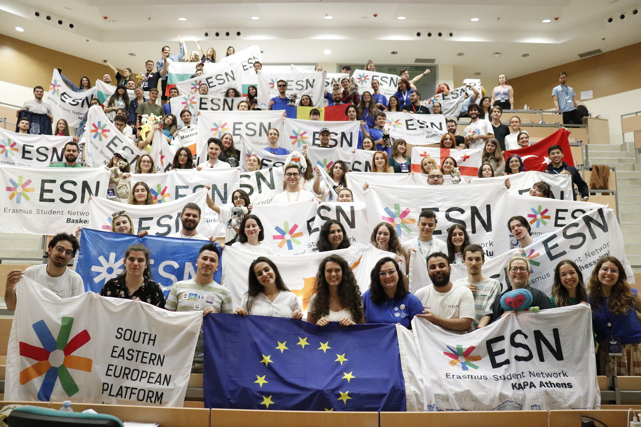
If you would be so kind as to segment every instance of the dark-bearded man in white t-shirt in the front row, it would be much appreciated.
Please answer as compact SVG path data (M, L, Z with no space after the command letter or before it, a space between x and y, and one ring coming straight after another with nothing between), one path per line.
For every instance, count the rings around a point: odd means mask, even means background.
M474 296L467 287L449 281L451 271L447 254L434 252L429 255L428 274L432 284L415 293L423 305L423 314L417 314L417 317L428 319L450 332L465 334L475 318Z

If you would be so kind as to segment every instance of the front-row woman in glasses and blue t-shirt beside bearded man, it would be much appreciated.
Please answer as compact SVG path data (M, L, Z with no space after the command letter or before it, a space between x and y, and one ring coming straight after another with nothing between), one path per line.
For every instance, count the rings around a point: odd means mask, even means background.
M401 274L399 264L391 257L376 262L369 289L363 294L365 323L397 323L412 329L412 319L423 313L423 306L410 294Z

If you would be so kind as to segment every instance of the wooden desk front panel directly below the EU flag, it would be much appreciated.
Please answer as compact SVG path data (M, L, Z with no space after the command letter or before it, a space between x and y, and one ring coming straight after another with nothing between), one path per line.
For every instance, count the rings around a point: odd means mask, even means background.
M211 417L211 427L378 427L378 412L212 409Z

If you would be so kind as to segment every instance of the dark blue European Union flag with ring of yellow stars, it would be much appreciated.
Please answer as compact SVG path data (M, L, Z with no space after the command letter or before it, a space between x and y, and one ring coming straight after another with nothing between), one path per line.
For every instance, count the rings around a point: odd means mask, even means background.
M395 325L203 319L207 408L404 411Z

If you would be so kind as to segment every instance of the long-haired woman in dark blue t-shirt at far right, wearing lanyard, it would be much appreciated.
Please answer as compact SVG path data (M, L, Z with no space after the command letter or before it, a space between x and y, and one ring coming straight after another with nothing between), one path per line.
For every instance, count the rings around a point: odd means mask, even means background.
M637 310L641 298L628 285L626 271L615 257L599 259L588 281L592 326L597 334L600 375L641 375L641 325ZM621 356L608 353L611 342L619 344Z

